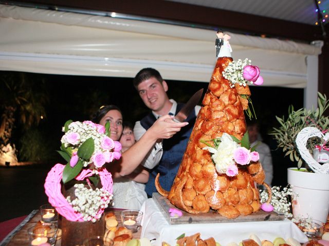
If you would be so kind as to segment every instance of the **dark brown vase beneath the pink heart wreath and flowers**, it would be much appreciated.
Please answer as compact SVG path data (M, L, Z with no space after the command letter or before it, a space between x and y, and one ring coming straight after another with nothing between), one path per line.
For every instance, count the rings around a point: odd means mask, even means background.
M65 197L70 196L71 199L75 198L76 183L83 181L72 180L67 185L62 186L62 193ZM89 187L85 185L86 187ZM92 185L92 188L95 187ZM62 241L61 245L75 246L82 245L83 241L87 238L94 236L103 236L105 232L105 219L104 214L95 223L92 221L69 221L64 216L61 216L61 229Z

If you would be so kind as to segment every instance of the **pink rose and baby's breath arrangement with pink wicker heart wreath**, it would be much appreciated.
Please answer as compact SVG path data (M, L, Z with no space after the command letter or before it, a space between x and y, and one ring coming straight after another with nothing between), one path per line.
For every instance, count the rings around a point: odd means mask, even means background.
M63 132L58 152L67 164L55 165L47 175L45 191L49 203L67 220L96 222L113 196L112 175L104 165L121 157L121 144L109 137L108 122L103 127L92 121L68 120ZM74 185L75 198L64 197L61 187L73 179L82 182ZM99 181L100 189L95 188Z

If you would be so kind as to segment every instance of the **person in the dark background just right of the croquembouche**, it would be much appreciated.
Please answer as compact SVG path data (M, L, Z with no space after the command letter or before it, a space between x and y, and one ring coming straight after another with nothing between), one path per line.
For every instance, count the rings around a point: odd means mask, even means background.
M271 151L264 142L259 133L259 125L256 121L247 121L247 131L249 133L249 141L251 147L256 146L256 151L259 153L260 162L265 172L265 182L271 186L273 179L273 165Z

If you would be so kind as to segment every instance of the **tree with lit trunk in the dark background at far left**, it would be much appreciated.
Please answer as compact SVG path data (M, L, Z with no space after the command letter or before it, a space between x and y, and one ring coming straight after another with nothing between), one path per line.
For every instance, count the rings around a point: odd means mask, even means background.
M48 97L44 81L28 79L26 73L0 73L0 162L17 161L13 131L17 125L21 131L38 125L41 116L46 117Z

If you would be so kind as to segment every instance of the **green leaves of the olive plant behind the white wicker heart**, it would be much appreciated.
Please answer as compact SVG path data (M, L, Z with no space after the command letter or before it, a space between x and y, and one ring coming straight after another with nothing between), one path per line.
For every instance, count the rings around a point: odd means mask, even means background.
M280 127L273 128L273 131L269 134L273 136L278 142L278 148L282 148L285 152L285 156L289 156L291 161L298 162L298 168L302 166L303 160L298 152L296 146L297 134L305 127L316 127L320 130L325 130L329 126L329 118L324 116L323 113L329 107L329 101L326 95L322 95L318 92L318 108L307 110L301 108L294 110L293 106L288 108L288 117L280 118L276 116ZM309 138L307 141L307 149L311 152L316 145L321 144L321 139L318 137Z

